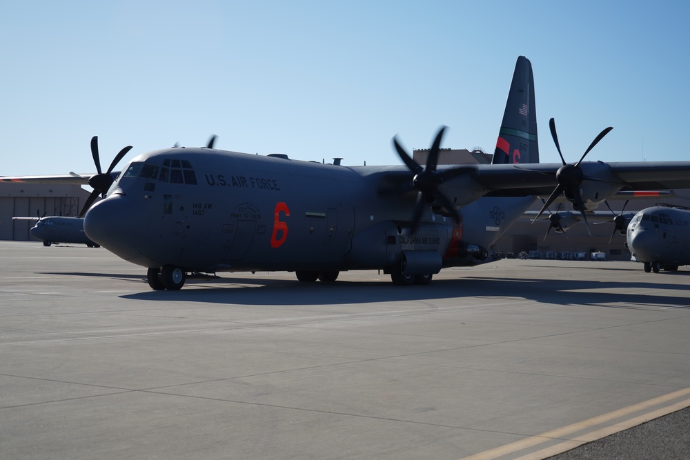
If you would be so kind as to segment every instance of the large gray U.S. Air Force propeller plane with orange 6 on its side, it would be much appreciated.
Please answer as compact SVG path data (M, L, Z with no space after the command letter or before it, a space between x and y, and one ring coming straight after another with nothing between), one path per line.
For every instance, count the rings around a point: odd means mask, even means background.
M553 120L550 128L560 153ZM340 271L378 269L396 285L428 284L442 268L488 260L487 248L536 196L551 193L545 209L564 194L584 217L620 190L690 188L690 162L584 161L610 129L578 163L562 154L562 164L538 163L531 64L520 57L491 165L439 166L444 128L424 166L396 138L404 166L168 148L132 159L114 182L112 164L91 177L112 186L86 212L84 230L148 268L155 290L179 290L188 272L221 271L334 281Z

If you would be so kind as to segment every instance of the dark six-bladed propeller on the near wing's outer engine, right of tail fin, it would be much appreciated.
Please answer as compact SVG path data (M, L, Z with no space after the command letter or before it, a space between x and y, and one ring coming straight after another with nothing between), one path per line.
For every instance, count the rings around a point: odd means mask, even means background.
M580 210L580 213L582 214L582 219L584 220L584 223L587 226L587 232L589 232L590 235L592 234L592 232L589 230L589 222L587 222L587 216L584 213L584 203L582 203L582 194L580 194L580 184L584 180L602 181L602 179L597 179L595 177L586 177L584 175L584 172L582 172L582 168L580 168L580 163L582 163L582 160L584 160L584 157L587 156L590 150L592 150L594 146L596 146L599 143L599 141L604 139L604 136L609 134L609 131L611 131L612 129L613 127L611 126L609 126L608 128L604 128L604 130L602 130L602 132L600 132L599 135L595 137L592 143L589 144L589 148L587 148L587 150L584 151L584 154L582 154L580 161L571 165L566 163L563 154L561 153L560 144L558 143L558 135L556 134L555 121L553 120L553 118L549 120L549 130L551 130L551 137L553 137L553 143L555 143L556 145L556 150L558 150L558 154L561 157L563 166L558 168L558 171L555 172L555 177L558 181L558 186L556 186L556 188L553 189L553 192L551 192L549 199L546 200L544 206L542 206L542 209L539 211L537 217L535 217L534 220L537 220L540 217L540 215L542 215L544 210L546 210L546 208L548 208L549 205L560 196L560 194L566 192L566 194L569 194L569 196L575 200L575 206L578 208L578 210Z

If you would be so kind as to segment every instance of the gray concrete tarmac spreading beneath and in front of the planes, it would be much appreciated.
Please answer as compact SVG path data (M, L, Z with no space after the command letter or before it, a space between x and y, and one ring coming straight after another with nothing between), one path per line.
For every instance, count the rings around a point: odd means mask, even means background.
M542 459L688 419L686 268L503 260L429 286L257 272L154 292L102 248L0 254L2 458ZM672 453L633 453L690 457L684 424L662 430Z

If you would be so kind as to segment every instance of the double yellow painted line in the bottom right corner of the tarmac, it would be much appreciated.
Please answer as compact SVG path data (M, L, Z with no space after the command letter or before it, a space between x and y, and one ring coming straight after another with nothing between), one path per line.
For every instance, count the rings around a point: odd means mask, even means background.
M687 397L688 395L690 395L690 388L684 388L682 390L674 391L669 394L664 394L660 397L649 399L647 401L642 401L641 403L633 404L632 406L628 406L627 408L614 410L613 412L609 412L608 414L598 415L597 417L592 417L591 419L579 421L578 423L573 423L569 426L564 426L562 428L557 428L555 430L547 431L542 434L537 434L535 436L525 438L520 441L515 441L513 443L506 444L505 446L485 450L484 452L473 454L469 457L464 457L464 459L462 460L497 459L498 457L503 457L504 455L512 454L522 449L538 446L542 443L564 439L575 432L586 430L588 428L593 428L598 425L602 425L603 423L608 423L615 419L619 419L620 417L627 417L628 415L634 414L635 412L640 412L640 410L647 410L649 408L653 408L654 406L659 406L663 403L669 403L669 401L673 401L682 397ZM574 436L572 437L572 439L563 441L559 444L556 444L555 446L550 446L549 448L544 448L542 450L538 450L537 452L525 454L522 457L517 457L516 460L535 460L551 457L553 455L566 452L566 450L571 450L578 446L582 446L582 444L586 444L591 441L596 441L597 439L602 439L603 437L607 437L610 434L627 430L628 428L632 428L633 426L640 425L640 423L657 419L658 417L671 414L671 412L676 412L687 407L690 407L690 399L684 399L676 403L671 403L669 406L664 406L662 408L652 410L651 412L645 412L644 414L640 414L637 417L633 417L632 419L620 421L610 426L604 426L602 428L595 429L591 432L587 432L586 434L582 434L580 436Z

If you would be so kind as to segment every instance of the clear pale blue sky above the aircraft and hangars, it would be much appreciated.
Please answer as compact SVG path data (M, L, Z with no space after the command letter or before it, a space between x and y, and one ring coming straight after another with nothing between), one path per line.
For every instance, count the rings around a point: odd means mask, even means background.
M391 138L493 152L520 54L542 162L687 160L687 1L4 1L0 174L202 146L398 164Z

